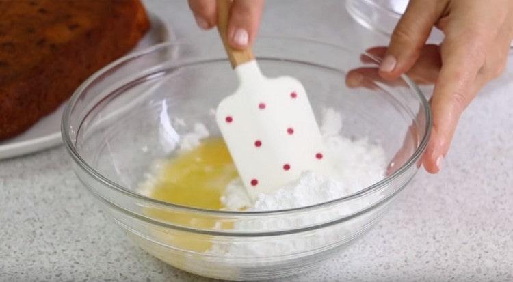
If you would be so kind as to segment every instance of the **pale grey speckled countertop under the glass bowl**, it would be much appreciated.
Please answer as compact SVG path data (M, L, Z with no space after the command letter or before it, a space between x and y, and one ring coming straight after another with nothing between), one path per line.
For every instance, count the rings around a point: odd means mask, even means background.
M267 4L261 33L386 42L350 22L341 1ZM146 5L179 38L204 36L186 1ZM285 281L513 281L512 90L510 61L462 116L442 173L420 172L362 240ZM75 178L64 147L0 161L0 281L35 280L210 281L132 246Z

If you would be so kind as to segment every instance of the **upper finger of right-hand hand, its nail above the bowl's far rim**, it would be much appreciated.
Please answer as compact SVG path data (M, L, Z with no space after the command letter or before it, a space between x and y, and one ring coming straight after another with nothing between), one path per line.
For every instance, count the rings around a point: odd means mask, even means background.
M437 2L410 0L406 12L395 26L380 65L380 75L384 79L397 79L415 64L432 27L443 12Z

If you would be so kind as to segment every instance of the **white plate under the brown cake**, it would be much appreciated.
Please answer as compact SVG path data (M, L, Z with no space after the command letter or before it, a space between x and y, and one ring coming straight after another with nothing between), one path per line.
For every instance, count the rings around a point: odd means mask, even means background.
M174 34L163 21L149 14L151 29L144 38L133 48L131 52L140 51L149 46L174 39ZM53 113L43 117L29 130L11 139L0 141L0 160L22 156L33 152L55 147L62 143L61 139L61 118L66 103L63 103Z

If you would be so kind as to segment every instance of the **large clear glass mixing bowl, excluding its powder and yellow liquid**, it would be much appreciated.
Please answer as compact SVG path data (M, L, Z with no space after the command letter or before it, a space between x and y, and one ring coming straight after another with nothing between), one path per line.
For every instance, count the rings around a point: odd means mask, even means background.
M267 76L302 81L317 118L332 107L343 115L346 137L382 146L389 175L341 199L269 212L191 208L139 193L153 162L172 154L188 131L170 121L202 122L219 135L211 110L235 90L237 79L217 41L159 44L119 59L77 89L63 116L75 173L114 222L155 257L206 277L284 277L339 253L408 184L429 138L423 94L406 76L381 81L372 74L379 62L371 55L294 38L259 38L253 50ZM365 70L358 79L363 83L354 85L348 75L357 69ZM230 248L244 251L214 250Z

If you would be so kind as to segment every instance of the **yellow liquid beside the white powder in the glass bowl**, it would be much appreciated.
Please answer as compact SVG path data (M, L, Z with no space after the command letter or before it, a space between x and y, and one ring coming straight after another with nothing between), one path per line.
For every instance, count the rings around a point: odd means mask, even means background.
M221 138L205 139L194 150L166 160L150 191L150 197L181 206L220 210L226 185L238 173L228 148ZM187 211L148 208L147 214L168 223L198 229L232 229L233 223L222 218ZM211 247L209 236L192 236L181 231L159 234L168 244L204 252Z

